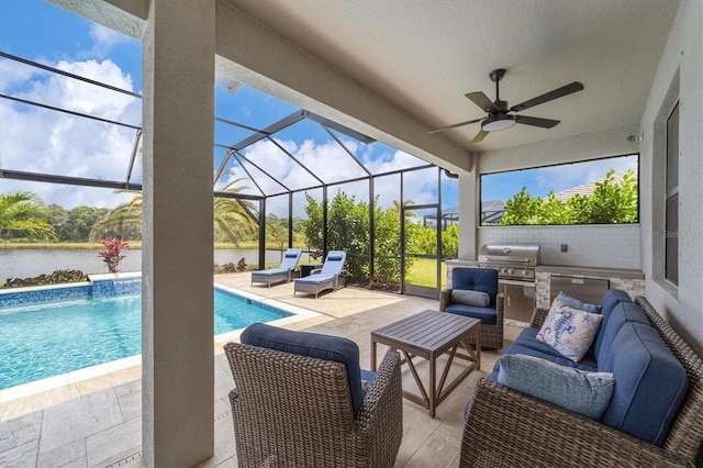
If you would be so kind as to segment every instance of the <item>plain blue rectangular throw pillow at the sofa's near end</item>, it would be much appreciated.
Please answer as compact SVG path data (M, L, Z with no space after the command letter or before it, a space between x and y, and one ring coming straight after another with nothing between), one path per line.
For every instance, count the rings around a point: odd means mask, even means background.
M615 390L610 372L589 372L527 355L503 355L498 383L600 421Z

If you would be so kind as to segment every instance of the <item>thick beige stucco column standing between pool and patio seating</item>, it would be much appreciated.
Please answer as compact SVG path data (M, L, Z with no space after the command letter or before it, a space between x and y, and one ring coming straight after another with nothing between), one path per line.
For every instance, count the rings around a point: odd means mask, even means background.
M214 0L152 0L144 35L142 444L213 454Z

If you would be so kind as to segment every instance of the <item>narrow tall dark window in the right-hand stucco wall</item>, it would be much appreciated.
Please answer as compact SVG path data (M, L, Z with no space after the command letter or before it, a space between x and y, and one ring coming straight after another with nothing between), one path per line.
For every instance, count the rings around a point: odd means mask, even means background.
M679 283L679 103L667 119L665 278Z

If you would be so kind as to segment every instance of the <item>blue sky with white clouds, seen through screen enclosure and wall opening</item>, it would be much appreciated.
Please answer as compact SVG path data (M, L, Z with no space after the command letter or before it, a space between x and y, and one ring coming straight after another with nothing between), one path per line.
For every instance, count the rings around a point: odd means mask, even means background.
M0 0L0 49L2 52L49 65L75 75L107 82L121 89L142 91L142 46L138 41L123 36L107 27L68 13L40 0ZM63 109L141 125L141 100L77 82L70 78L37 70L12 60L0 58L0 91ZM254 127L265 127L297 111L298 108L256 89L243 87L232 93L215 87L215 114ZM124 178L132 153L135 131L86 122L80 118L19 105L0 99L0 164L7 169L45 172L74 177L110 180ZM249 132L215 123L215 143L231 145ZM373 174L424 164L417 158L382 143L364 145L335 133L356 158ZM315 176L325 182L349 177L361 177L362 170L346 155L336 142L314 123L303 121L276 135L277 142L295 158L315 167ZM226 149L213 149L216 168ZM260 142L243 155L288 188L295 189L314 183L305 172L271 142ZM636 168L636 158L600 160L588 164L542 168L517 172L491 175L482 178L482 200L506 200L523 186L533 196L546 196L590 180L602 178L615 167L618 171ZM246 179L246 174L234 163L216 183L221 188L234 178ZM282 191L280 183L249 168L258 186L266 193ZM132 175L141 182L141 170ZM445 183L446 182L446 183ZM31 190L47 203L65 208L80 204L114 207L127 196L115 196L111 190L65 187L49 183L30 183L0 179L0 191ZM243 182L246 193L258 193L250 180ZM382 207L399 200L398 177L378 179L375 189ZM458 204L458 183L444 178L443 207ZM404 199L416 204L436 201L436 171L410 172L403 183ZM347 185L343 188L359 200L368 197L368 186ZM332 189L332 193L336 188ZM312 191L315 198L321 191ZM298 203L299 205L301 203ZM283 197L267 203L269 212L287 215ZM301 214L301 208L295 208Z

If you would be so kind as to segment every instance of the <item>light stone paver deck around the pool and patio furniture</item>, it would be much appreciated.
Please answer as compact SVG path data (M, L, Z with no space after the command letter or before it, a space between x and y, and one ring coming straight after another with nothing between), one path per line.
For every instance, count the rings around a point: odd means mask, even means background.
M250 286L249 274L216 275L219 285L254 293L286 307L313 311L280 324L346 336L359 345L360 363L370 367L370 332L438 301L393 293L344 288L313 296L293 294L293 283ZM518 328L507 325L506 339ZM215 454L202 467L236 467L236 447L227 392L234 387L222 346L215 343ZM379 348L379 355L384 349ZM500 352L481 353L481 370L471 372L437 408L427 410L403 400L403 442L397 467L456 467L459 461L464 408L478 379L487 376ZM417 366L426 372L426 366ZM457 370L457 372L460 369ZM451 375L450 375L451 376ZM141 366L78 380L40 393L0 402L0 466L2 467L132 467L142 466ZM403 386L414 381L404 369Z

